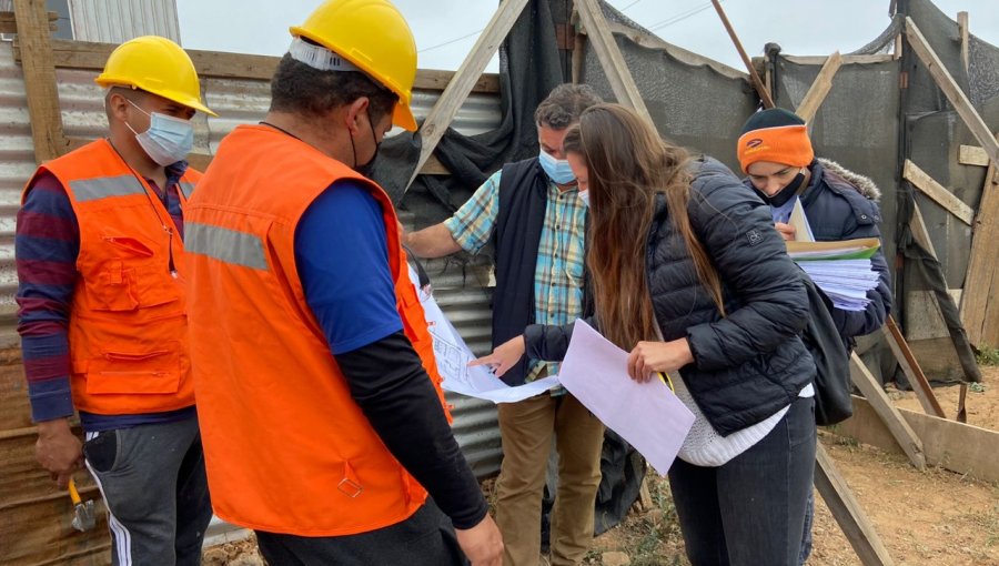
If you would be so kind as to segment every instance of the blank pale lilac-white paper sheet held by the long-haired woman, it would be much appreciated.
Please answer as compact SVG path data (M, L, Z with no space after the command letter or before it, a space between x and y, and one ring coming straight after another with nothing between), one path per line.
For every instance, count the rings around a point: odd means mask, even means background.
M694 414L662 381L638 383L628 377L627 360L627 352L576 321L558 381L665 476Z

